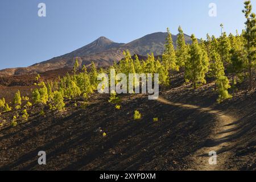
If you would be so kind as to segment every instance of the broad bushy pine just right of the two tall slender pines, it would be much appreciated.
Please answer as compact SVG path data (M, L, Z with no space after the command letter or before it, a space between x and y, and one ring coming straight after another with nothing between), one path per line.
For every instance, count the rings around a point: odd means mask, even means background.
M185 63L185 79L193 82L193 88L196 89L197 83L205 83L205 73L208 71L207 53L202 50L195 38L191 36L192 44L189 47L189 57Z

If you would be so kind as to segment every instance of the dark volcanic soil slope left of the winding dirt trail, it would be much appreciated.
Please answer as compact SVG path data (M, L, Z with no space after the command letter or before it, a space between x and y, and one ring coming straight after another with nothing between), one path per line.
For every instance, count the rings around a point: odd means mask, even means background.
M100 103L86 109L70 105L46 117L31 114L30 122L2 129L1 169L182 169L213 123L209 114L202 114L207 122L200 123L196 110L166 107L147 97L123 101L121 110L107 97L94 98ZM143 116L139 121L133 119L135 109ZM46 166L37 164L40 150L47 153Z

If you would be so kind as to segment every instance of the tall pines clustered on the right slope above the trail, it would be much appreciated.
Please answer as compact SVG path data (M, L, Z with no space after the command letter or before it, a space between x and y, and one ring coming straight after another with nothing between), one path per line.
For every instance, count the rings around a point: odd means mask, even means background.
M220 38L215 38L207 34L207 40L201 39L200 41L192 35L192 43L186 44L183 31L179 27L176 50L167 28L168 36L162 64L168 70L168 75L172 76L172 72L184 69L185 81L191 81L194 89L205 84L205 77L212 77L215 80L214 88L219 94L218 102L232 97L228 89L232 88L234 94L237 80L249 78L249 90L252 90L256 65L256 19L251 11L251 2L246 1L245 9L242 11L246 18L246 29L241 35L237 32L236 35L227 36L226 32L221 32ZM229 84L226 75L231 75L232 85Z

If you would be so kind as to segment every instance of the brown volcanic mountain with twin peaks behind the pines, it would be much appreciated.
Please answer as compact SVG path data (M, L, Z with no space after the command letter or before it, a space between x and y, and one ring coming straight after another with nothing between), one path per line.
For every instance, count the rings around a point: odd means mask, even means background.
M166 42L166 32L156 32L148 34L142 38L133 40L130 43L115 43L104 36L94 40L94 42L76 49L62 56L53 57L50 60L36 63L26 68L7 68L0 71L0 76L26 75L33 73L42 73L53 69L73 67L76 58L80 65L91 64L94 61L97 67L107 67L114 61L123 58L123 51L129 50L131 55L137 54L146 56L147 53L153 52L154 55L162 55L164 43ZM185 41L191 43L191 38L185 36ZM176 47L177 35L172 35L174 47Z

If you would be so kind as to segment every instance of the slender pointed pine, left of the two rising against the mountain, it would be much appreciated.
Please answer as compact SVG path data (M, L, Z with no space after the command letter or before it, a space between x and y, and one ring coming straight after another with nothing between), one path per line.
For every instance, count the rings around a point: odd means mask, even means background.
M168 71L171 70L179 70L179 67L176 65L176 55L175 55L175 49L174 44L172 42L172 35L170 33L169 28L167 28L167 38L166 38L166 44L164 45L165 50L163 53L163 63L164 66L168 69Z

